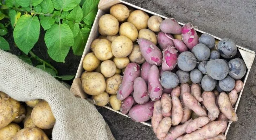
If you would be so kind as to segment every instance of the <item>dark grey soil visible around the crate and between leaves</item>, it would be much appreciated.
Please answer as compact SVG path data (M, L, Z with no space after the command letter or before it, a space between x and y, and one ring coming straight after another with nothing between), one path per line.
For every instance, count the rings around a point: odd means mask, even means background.
M238 45L256 51L256 0L223 1L223 0L124 0L152 12L173 17L182 23L191 22L200 30L218 36L231 38ZM22 55L14 46L12 29L5 38L10 43L11 53ZM44 43L44 30L41 29L39 41L32 51L40 58L50 59ZM75 75L81 56L75 56L70 50L66 63L50 63L58 70L59 75ZM255 60L254 60L255 63ZM256 139L256 65L252 65L238 109L238 122L232 123L227 135L228 140ZM71 84L72 81L68 83ZM116 140L157 140L152 128L136 123L113 111L97 107Z

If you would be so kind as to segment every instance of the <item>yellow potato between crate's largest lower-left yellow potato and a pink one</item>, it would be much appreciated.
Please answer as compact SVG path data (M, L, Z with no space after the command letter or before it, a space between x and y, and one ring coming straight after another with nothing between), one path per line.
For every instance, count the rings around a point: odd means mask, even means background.
M121 83L122 83L122 76L119 74L115 74L112 77L107 78L106 92L108 92L109 94L115 95Z

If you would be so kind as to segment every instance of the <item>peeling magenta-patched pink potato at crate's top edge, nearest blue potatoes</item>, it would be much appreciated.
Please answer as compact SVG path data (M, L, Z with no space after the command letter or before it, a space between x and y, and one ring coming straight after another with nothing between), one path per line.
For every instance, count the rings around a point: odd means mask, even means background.
M192 50L193 47L199 43L198 35L196 30L194 30L194 26L191 23L187 23L182 27L182 39L186 44L187 48Z

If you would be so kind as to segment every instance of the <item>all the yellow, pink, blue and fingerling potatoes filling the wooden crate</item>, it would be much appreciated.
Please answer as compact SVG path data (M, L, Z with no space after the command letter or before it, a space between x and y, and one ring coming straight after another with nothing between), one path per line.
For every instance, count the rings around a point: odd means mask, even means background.
M231 39L122 4L100 18L98 31L81 76L96 105L151 119L160 140L226 139L247 71Z

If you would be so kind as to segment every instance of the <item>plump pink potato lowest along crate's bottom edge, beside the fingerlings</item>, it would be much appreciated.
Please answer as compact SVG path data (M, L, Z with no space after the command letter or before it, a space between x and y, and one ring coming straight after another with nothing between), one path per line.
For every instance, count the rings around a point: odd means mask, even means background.
M136 121L143 122L150 120L153 116L154 102L148 101L146 104L137 104L130 109L128 116Z

